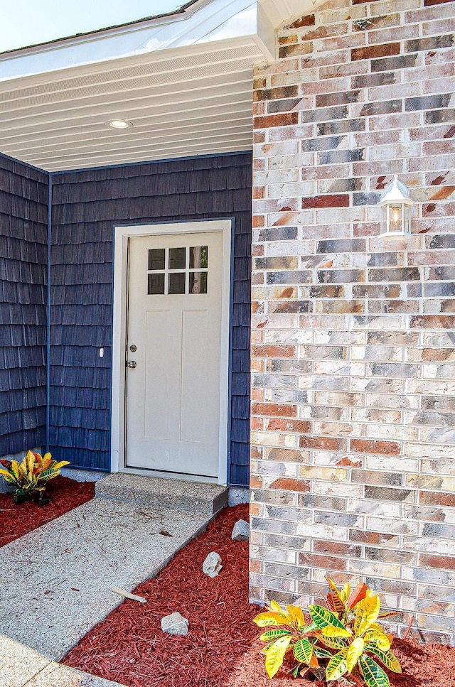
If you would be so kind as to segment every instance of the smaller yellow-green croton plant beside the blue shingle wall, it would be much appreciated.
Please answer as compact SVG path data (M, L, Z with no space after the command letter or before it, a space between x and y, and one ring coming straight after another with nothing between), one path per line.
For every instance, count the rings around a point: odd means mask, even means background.
M53 477L60 475L60 467L69 465L69 460L53 460L50 453L41 455L28 451L22 462L17 460L0 460L3 467L0 468L0 475L5 482L14 485L14 503L33 499L44 504L44 492L46 484Z

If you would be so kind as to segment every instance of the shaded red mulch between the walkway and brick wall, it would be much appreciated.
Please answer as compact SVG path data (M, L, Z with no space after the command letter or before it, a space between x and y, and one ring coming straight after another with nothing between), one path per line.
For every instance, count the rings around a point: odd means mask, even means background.
M257 636L247 601L248 543L232 541L235 522L248 518L245 505L225 509L152 580L97 624L64 663L128 687L222 686ZM209 578L202 564L210 551L222 559ZM178 611L189 621L186 637L161 632L161 618Z

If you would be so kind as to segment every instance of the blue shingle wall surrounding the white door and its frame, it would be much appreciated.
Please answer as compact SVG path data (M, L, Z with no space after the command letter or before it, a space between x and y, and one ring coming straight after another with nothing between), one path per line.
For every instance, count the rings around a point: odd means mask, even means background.
M250 153L239 153L53 174L50 448L58 460L109 470L112 227L235 217L230 483L247 485L251 165Z

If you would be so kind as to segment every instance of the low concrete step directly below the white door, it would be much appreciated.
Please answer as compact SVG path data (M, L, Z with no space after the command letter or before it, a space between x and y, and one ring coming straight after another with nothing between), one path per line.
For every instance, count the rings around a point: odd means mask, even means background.
M228 505L229 489L220 485L112 472L96 483L95 494L100 499L175 508L212 516Z

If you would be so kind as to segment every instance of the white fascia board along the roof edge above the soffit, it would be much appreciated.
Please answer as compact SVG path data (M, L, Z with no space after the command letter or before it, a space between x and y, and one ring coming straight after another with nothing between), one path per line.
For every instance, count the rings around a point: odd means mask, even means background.
M0 54L0 82L230 38L251 37L259 48L272 48L269 31L264 39L258 35L258 23L258 0L205 0L168 18Z

